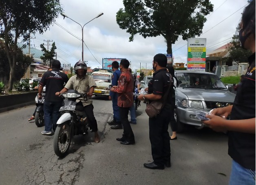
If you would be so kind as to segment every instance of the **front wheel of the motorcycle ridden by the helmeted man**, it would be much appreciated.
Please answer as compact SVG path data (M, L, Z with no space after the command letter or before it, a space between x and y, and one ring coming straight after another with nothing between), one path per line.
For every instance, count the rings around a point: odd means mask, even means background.
M71 131L69 122L66 121L61 125L58 125L53 138L54 152L59 157L64 157L71 144Z

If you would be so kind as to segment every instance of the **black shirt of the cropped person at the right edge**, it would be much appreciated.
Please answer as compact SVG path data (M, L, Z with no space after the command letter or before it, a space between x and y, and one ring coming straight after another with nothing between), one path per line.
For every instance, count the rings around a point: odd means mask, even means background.
M249 67L238 87L231 120L255 118L255 53L249 57ZM229 131L228 154L247 169L255 170L255 134Z

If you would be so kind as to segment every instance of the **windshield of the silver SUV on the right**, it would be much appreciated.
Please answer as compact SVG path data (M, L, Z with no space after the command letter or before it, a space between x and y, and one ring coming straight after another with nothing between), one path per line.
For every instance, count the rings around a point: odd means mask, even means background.
M176 73L179 88L205 88L227 90L216 75L203 73Z

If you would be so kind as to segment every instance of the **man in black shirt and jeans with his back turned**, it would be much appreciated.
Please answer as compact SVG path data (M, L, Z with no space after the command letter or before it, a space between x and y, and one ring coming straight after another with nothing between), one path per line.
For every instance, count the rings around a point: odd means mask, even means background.
M68 76L60 72L60 61L51 62L52 71L44 73L39 82L38 98L42 98L43 87L46 86L44 97L44 131L43 135L51 135L52 129L55 131L57 120L60 116L60 107L62 106L62 97L56 97L55 92L62 90L64 83L68 82Z

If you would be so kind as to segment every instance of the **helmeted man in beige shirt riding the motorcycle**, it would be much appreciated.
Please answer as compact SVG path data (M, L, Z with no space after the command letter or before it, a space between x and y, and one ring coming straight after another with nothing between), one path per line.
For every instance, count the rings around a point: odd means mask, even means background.
M80 93L87 93L87 101L84 101L84 98L79 98L77 101L82 101L84 105L84 112L88 118L89 127L94 132L94 141L95 143L100 142L99 134L98 134L98 125L97 120L93 114L93 91L97 86L93 77L87 75L87 65L85 62L79 61L75 63L74 66L75 74L71 76L65 87L60 90L60 92L56 92L55 95L60 96L60 93L66 92L69 89L77 90Z

